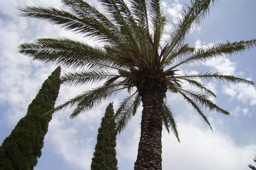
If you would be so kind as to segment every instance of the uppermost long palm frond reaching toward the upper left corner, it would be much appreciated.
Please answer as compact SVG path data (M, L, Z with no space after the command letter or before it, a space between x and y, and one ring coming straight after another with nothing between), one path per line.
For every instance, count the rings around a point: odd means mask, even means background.
M61 27L69 31L74 31L78 34L84 34L87 37L93 37L96 40L102 40L111 42L118 40L118 37L113 34L113 31L109 28L105 28L102 25L96 25L93 23L95 20L90 20L90 18L84 17L79 18L70 12L59 10L57 8L44 8L41 6L25 6L20 9L22 17L38 18L40 20L46 20L51 24L62 25Z

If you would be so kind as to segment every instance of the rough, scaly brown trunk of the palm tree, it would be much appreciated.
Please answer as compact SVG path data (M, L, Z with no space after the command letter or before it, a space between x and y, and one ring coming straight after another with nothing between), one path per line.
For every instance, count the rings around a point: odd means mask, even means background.
M161 108L165 93L156 82L147 82L139 88L143 102L140 142L134 170L162 170Z

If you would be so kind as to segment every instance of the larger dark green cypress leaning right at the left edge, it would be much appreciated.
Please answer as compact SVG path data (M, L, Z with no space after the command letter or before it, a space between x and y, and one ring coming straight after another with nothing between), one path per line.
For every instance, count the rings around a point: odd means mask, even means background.
M44 136L60 89L61 67L46 79L29 105L27 114L17 123L12 133L0 146L0 170L33 170L41 157Z

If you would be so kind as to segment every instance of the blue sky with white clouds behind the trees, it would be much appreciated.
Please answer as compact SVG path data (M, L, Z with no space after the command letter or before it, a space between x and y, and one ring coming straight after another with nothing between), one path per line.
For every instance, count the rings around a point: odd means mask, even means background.
M96 1L87 2L97 5ZM163 12L171 23L180 17L180 10L189 0L162 0ZM32 99L42 83L57 67L32 61L17 52L17 45L41 37L67 36L90 45L97 44L79 37L57 25L44 21L19 17L22 6L53 6L63 8L60 0L0 0L0 143L9 136L19 119L26 115ZM219 0L210 7L210 13L186 37L186 43L200 47L227 40L250 40L255 34L255 0ZM168 34L165 34L165 40ZM181 73L201 71L225 71L237 77L256 81L256 49L241 54L197 62L180 67ZM68 69L62 68L61 73ZM186 85L186 84L185 84ZM177 94L168 94L166 100L174 110L180 134L180 143L173 134L163 130L163 170L248 170L253 164L253 148L256 148L256 88L251 85L206 82L217 98L213 100L230 116L209 113L213 132L200 116ZM71 88L62 85L55 106L62 104L81 91L94 85ZM96 144L97 129L105 108L114 102L114 109L126 96L126 92L103 102L98 108L69 119L70 109L54 113L45 136L42 156L35 170L89 170ZM127 128L117 136L119 170L131 170L137 158L140 139L142 107Z

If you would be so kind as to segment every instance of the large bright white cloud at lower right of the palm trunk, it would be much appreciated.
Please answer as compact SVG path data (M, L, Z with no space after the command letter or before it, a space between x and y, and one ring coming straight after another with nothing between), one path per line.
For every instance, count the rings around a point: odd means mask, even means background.
M255 145L237 146L227 134L183 123L179 131L180 144L163 133L163 169L247 170L250 149Z

